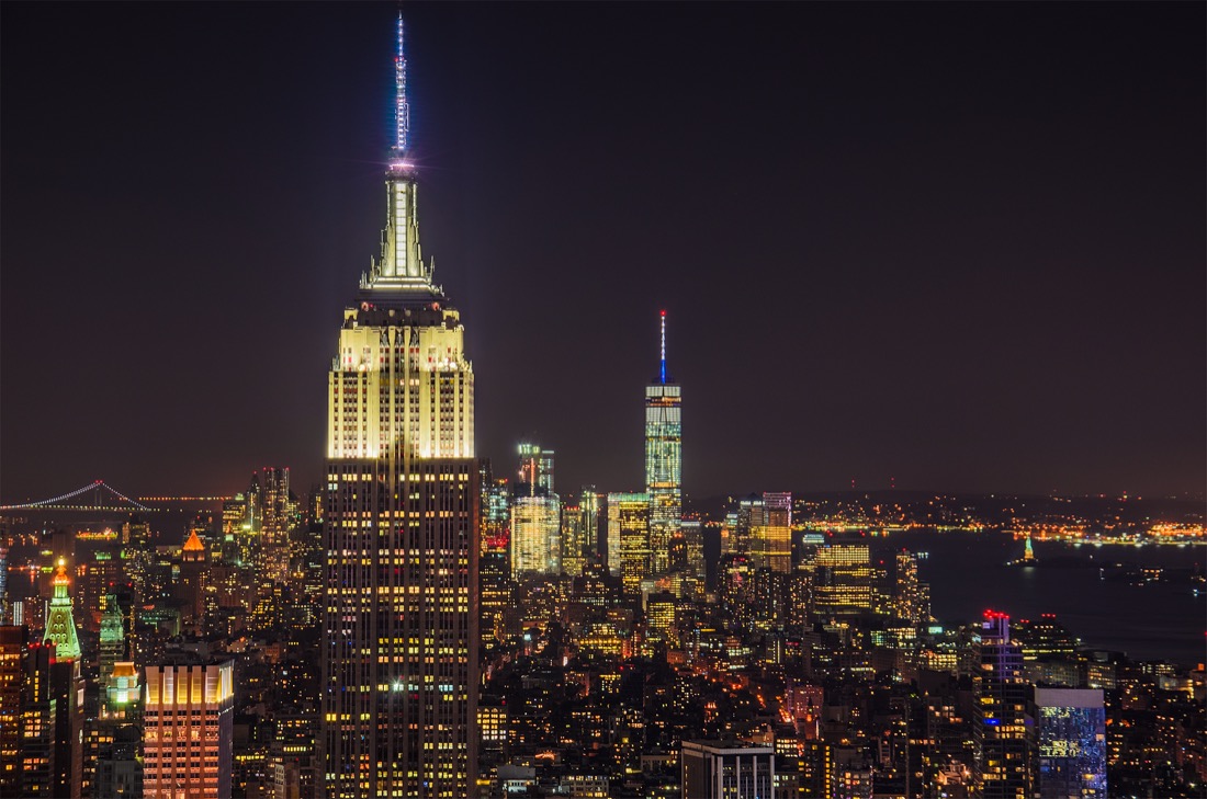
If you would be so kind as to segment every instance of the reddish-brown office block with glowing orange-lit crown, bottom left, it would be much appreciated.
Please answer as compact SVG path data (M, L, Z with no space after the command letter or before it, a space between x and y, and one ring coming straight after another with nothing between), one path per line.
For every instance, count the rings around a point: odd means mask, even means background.
M144 797L229 797L234 660L175 656L146 666L144 685Z

